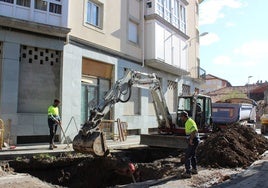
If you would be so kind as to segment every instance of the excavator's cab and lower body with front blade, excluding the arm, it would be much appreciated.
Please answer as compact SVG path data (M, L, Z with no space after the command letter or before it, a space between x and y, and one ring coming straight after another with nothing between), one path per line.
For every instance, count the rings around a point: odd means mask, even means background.
M141 134L140 144L150 147L187 148L185 126L180 118L182 111L188 112L189 116L196 121L201 137L207 136L212 131L211 98L200 94L181 95L178 97L176 120L173 119L172 126L159 127L158 134Z

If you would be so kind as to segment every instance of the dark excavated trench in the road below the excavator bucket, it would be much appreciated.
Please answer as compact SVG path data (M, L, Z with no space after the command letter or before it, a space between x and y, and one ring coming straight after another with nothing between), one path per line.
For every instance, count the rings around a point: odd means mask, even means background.
M28 173L43 181L64 187L113 187L160 179L178 173L182 151L163 148L117 150L106 158L65 153L20 158L9 162L15 172ZM129 163L135 172L130 173Z

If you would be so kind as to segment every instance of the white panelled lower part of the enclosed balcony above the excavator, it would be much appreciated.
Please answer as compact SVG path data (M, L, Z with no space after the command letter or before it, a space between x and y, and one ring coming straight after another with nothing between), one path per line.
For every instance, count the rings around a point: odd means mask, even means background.
M164 25L158 19L145 21L145 61L158 70L177 76L188 75L187 51L183 50L188 37Z

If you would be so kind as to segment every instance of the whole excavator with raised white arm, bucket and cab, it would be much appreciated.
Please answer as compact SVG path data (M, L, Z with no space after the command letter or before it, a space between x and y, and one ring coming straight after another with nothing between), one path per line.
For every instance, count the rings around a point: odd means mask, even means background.
M205 95L189 95L178 97L178 110L171 114L162 93L160 80L155 73L143 73L135 70L128 71L117 80L106 93L102 101L90 110L88 120L83 124L79 133L73 139L73 149L79 153L107 156L109 149L104 132L99 128L104 116L118 102L126 103L131 97L132 87L149 89L158 122L156 134L142 134L141 144L158 147L186 147L184 125L180 113L187 111L189 116L196 119L199 132L211 132L211 99ZM199 110L198 110L199 109ZM170 141L171 140L171 141ZM180 141L183 144L179 144Z

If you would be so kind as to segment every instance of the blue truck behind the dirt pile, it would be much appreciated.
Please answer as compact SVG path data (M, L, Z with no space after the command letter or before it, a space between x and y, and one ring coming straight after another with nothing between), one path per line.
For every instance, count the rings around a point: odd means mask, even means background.
M257 103L248 98L229 98L212 103L214 129L239 124L255 129Z

